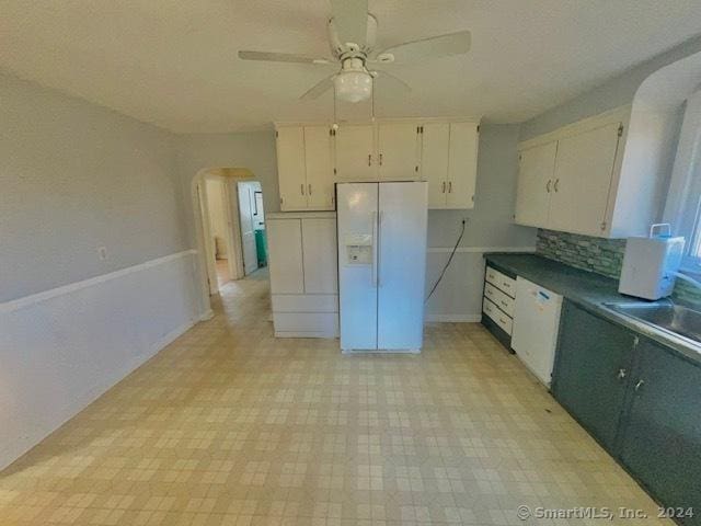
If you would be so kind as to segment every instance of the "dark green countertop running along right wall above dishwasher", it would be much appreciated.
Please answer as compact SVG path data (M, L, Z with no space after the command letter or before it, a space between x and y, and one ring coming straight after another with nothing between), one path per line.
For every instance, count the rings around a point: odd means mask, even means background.
M541 287L560 294L589 312L669 347L688 359L701 364L701 345L655 329L607 308L604 304L647 302L618 293L618 281L593 272L581 271L532 253L487 253L484 259L512 277L522 276Z

